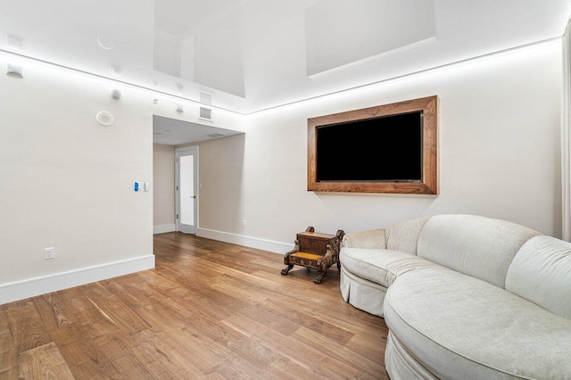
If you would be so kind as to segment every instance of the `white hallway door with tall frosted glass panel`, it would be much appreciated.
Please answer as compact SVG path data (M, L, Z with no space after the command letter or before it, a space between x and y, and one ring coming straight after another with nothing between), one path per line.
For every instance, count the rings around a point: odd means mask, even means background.
M198 146L175 149L177 231L196 234L198 227Z

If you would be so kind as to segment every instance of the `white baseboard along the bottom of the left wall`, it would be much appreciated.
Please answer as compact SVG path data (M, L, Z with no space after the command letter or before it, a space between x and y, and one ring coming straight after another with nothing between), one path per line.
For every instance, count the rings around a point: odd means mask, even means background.
M0 305L154 268L154 255L0 285Z

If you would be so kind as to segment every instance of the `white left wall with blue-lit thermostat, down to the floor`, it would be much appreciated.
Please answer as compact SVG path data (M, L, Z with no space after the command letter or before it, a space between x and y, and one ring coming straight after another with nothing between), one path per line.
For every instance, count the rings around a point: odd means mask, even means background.
M0 75L0 303L153 268L153 194L133 192L153 176L151 96L22 63Z

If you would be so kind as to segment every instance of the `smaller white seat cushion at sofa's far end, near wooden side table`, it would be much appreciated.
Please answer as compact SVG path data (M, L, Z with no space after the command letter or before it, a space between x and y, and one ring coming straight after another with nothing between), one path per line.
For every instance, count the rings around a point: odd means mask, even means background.
M410 270L441 268L417 255L384 249L343 247L339 260L347 272L385 287L393 285L396 277Z

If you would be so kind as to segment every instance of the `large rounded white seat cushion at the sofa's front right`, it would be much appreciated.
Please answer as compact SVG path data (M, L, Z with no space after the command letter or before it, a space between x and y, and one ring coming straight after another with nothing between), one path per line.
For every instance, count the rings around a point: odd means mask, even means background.
M571 321L447 268L400 276L385 297L392 334L441 378L570 378Z

